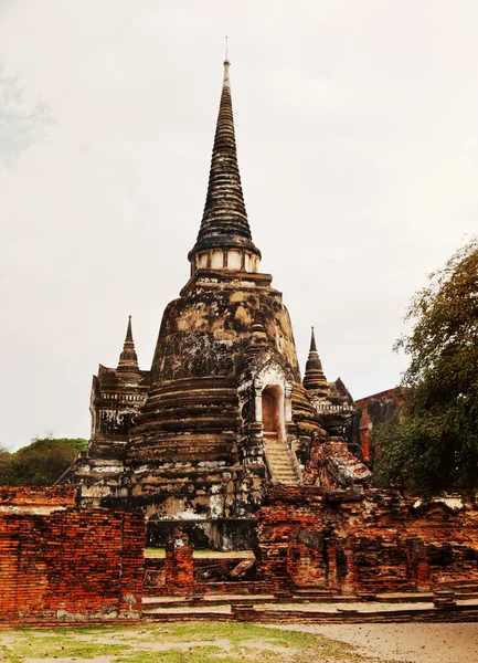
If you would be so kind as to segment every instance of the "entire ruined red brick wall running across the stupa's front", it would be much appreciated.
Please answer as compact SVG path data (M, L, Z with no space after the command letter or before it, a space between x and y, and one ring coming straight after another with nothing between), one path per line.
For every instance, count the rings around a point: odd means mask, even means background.
M77 509L70 486L0 494L0 623L140 617L142 516ZM204 567L211 561L193 560L188 535L176 532L166 558L147 560L145 594L373 594L478 583L478 509L459 501L419 505L392 491L275 486L257 534L257 569L234 582L241 559L221 572L216 562Z

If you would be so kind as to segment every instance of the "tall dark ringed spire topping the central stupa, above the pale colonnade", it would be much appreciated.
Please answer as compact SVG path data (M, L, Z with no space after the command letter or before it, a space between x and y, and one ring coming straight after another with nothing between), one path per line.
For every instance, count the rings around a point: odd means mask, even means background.
M261 259L252 241L237 166L230 65L225 60L208 196L198 241L189 254L191 262L201 251L229 248L245 249Z

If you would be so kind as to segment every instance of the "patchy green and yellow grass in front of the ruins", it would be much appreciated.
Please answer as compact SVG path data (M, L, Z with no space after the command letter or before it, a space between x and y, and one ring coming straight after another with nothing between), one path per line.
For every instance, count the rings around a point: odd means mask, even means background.
M54 635L54 638L53 638ZM114 663L365 663L351 645L299 631L241 623L85 627L0 633L0 663L92 659ZM383 663L383 662L382 662Z

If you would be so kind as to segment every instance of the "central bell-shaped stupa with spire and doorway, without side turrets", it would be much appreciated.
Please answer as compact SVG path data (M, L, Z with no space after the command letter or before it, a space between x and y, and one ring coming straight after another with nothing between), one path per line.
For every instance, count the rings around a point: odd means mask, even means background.
M130 496L147 505L150 520L251 517L274 478L262 449L263 411L277 422L284 453L319 429L282 294L257 271L229 67L191 278L164 311L152 386L130 433Z

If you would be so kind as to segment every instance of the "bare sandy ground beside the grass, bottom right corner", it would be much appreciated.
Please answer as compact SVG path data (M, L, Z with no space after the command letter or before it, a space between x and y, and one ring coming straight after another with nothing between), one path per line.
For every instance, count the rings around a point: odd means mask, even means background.
M266 624L264 624L266 625ZM359 652L407 663L478 663L478 623L289 624L274 628L319 633Z

